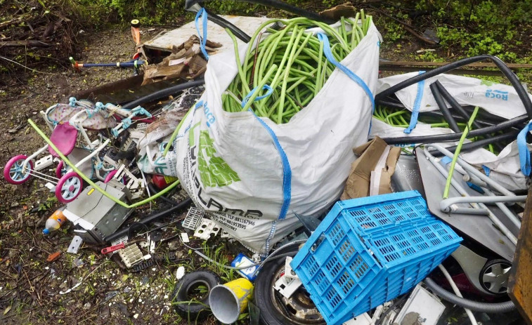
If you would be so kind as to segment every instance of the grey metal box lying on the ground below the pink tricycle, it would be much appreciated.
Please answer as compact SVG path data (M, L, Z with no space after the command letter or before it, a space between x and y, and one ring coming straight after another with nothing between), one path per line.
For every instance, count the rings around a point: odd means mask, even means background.
M109 183L98 181L96 185L120 201L126 201L128 196L126 185L115 180ZM63 213L74 224L74 234L88 243L101 244L105 242L105 237L113 234L133 211L133 208L121 206L88 186L79 197L67 204Z

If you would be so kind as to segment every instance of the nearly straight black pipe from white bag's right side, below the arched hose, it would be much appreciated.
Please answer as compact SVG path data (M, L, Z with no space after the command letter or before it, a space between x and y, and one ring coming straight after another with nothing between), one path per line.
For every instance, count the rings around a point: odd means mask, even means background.
M518 126L524 124L530 119L526 115L521 115L520 117L514 117L495 126L487 126L486 128L479 128L478 130L472 130L468 133L469 138L474 138L480 135L488 135L498 131L505 131L507 128L512 128L513 126ZM447 142L447 141L456 141L460 140L462 137L462 132L460 133L450 133L450 134L436 134L436 135L427 135L427 136L417 136L417 137L401 137L401 138L382 138L389 145L399 145L399 144L413 144L413 143L434 143L434 142Z

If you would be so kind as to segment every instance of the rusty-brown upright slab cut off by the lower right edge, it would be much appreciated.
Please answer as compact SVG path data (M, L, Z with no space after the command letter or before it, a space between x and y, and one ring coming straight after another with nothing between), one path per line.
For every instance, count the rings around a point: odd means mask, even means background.
M517 237L508 293L525 321L532 325L532 187L528 189L521 230Z

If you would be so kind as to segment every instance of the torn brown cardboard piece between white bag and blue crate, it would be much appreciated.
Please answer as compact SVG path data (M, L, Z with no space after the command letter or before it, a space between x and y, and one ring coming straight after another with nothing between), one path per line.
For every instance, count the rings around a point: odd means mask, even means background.
M391 175L394 175L400 147L390 147L379 137L353 149L358 156L340 199L354 199L391 193Z

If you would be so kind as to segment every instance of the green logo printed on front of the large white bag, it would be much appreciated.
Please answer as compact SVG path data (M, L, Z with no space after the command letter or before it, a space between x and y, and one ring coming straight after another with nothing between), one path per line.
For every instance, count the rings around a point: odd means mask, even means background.
M229 167L221 157L216 156L216 149L209 136L209 131L200 131L200 146L197 153L197 168L206 187L227 186L238 182L238 174Z

